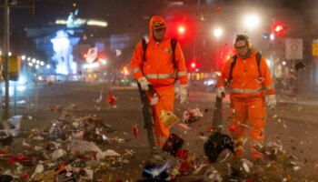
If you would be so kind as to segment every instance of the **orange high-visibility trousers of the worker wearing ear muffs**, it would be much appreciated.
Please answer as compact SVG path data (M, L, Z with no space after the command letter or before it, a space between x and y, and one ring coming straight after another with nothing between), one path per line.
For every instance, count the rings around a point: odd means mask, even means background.
M231 96L232 126L231 135L234 139L235 156L243 156L243 139L246 125L249 126L250 147L253 160L263 158L263 154L257 150L257 144L263 146L263 128L266 124L266 109L263 96L249 98L237 98ZM247 124L249 121L249 124ZM243 126L244 125L244 126Z

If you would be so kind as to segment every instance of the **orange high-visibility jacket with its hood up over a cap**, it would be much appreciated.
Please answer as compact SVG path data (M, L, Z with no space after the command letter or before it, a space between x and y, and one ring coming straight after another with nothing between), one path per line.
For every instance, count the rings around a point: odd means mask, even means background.
M175 47L176 75L174 73L173 50L171 38L164 35L160 43L154 40L153 24L156 21L164 22L164 18L158 15L153 16L149 23L150 37L144 60L143 41L140 41L135 49L131 60L131 68L134 78L138 80L145 76L156 88L174 86L174 78L178 77L181 85L187 84L187 73L184 61L184 54L179 43ZM164 22L165 24L165 22Z

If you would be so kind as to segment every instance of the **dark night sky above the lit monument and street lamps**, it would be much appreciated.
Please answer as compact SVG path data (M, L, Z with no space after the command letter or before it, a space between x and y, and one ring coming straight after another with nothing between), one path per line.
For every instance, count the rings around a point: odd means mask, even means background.
M3 2L2 0L1 2ZM11 0L12 1L12 0ZM31 5L32 0L15 0L19 5ZM11 28L45 26L57 17L66 18L69 12L79 9L79 17L102 18L109 23L109 33L122 32L129 27L138 27L146 17L157 14L171 0L35 0L36 14L30 10L12 9ZM315 0L184 0L185 5L253 5L289 7L296 11L315 8ZM74 6L76 4L76 6ZM0 10L3 17L3 10ZM0 23L2 23L1 18Z

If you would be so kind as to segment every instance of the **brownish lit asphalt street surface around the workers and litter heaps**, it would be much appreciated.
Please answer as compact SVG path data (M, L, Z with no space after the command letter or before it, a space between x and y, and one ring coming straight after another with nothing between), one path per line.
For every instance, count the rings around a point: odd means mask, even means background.
M117 98L115 106L109 106L105 99L108 90L113 91ZM103 98L98 103L96 100ZM268 121L265 128L267 142L279 139L283 148L307 164L318 165L318 121L317 105L314 99L303 99L301 96L278 96L278 106L268 112ZM128 151L133 155L128 158L129 163L114 168L104 174L112 179L138 179L142 173L144 162L149 157L146 132L143 128L141 103L136 88L131 86L108 86L106 83L84 82L55 82L53 85L45 83L29 86L25 94L18 96L18 101L25 100L25 104L18 105L17 115L23 115L22 133L15 138L11 147L19 147L19 142L26 137L33 128L51 125L58 118L55 107L72 107L75 116L100 116L112 128L108 137L124 138L124 143L105 143L102 149L114 149L124 154ZM292 102L293 101L293 102ZM22 102L23 103L23 102ZM309 104L308 104L309 103ZM175 101L175 115L182 117L185 110L198 107L204 111L204 117L199 121L186 126L179 123L172 128L172 132L184 138L184 147L204 157L204 139L209 136L207 128L212 125L214 111L214 94L195 88L189 89L189 103L181 105ZM13 110L13 108L11 108ZM228 98L224 99L224 133L228 133L226 121L229 114ZM133 125L137 124L140 137L135 138ZM21 147L21 145L20 145ZM248 142L245 145L248 155ZM19 150L18 148L16 150Z

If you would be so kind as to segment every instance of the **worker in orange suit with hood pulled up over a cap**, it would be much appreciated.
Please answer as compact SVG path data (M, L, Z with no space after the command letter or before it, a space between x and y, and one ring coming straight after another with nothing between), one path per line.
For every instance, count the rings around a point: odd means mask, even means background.
M154 15L149 23L149 41L144 53L143 41L140 41L131 60L134 78L144 91L149 85L154 87L158 101L152 106L154 116L154 137L156 146L163 146L169 136L169 128L160 121L161 111L174 111L174 82L179 79L181 103L187 100L187 73L184 54L179 43L176 44L174 54L171 38L165 34L164 18ZM148 99L154 99L152 96Z

